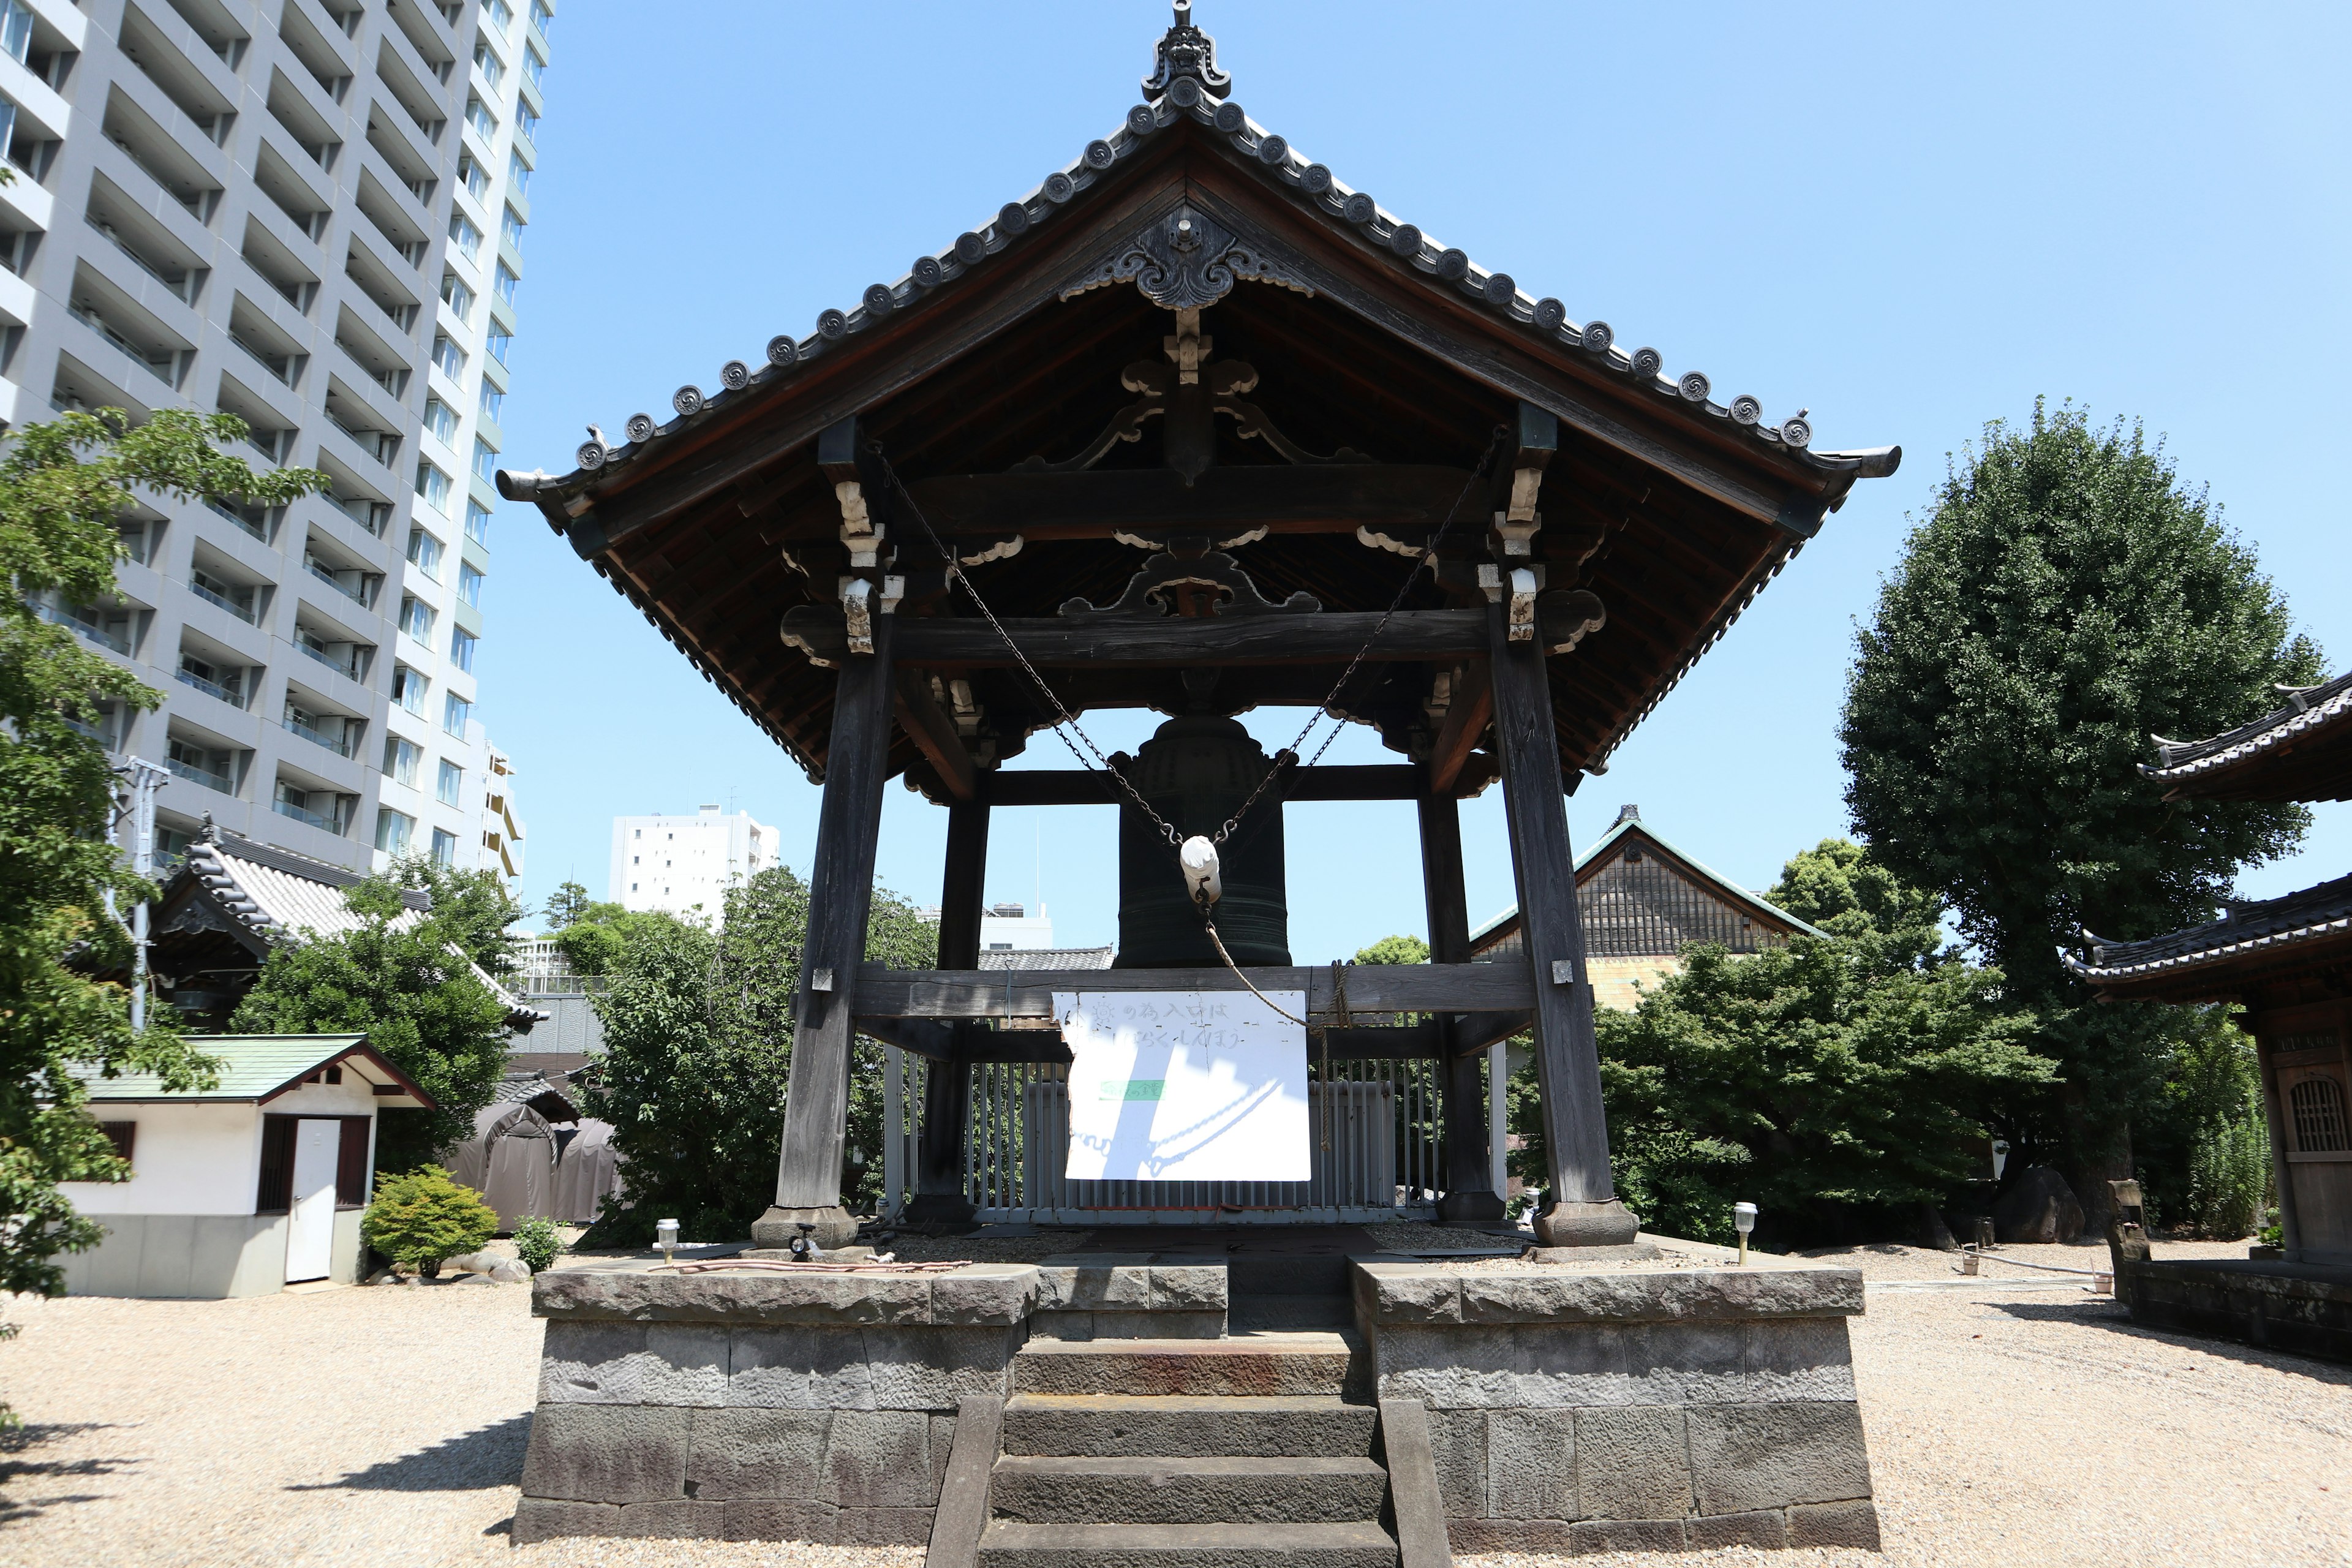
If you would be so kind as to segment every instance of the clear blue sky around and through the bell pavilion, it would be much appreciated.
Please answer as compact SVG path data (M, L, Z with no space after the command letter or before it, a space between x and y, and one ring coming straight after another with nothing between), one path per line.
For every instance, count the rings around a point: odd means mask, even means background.
M567 0L532 183L510 468L668 411L779 331L985 221L1108 134L1164 5ZM1844 832L1856 618L1987 418L2037 395L2138 418L2209 484L2345 665L2352 54L2343 7L1406 7L1202 0L1235 99L1308 158L1668 369L1903 444L1569 802L1618 804L1769 886ZM522 771L527 896L604 893L609 820L734 804L807 870L816 790L532 508L506 505L482 717ZM1303 715L1256 712L1268 748ZM1096 715L1134 745L1155 717ZM1331 762L1388 752L1352 729ZM1037 736L1023 766L1070 766ZM1510 903L1494 792L1465 804L1472 917ZM1108 809L1000 811L993 898L1063 945L1117 929ZM1294 806L1301 961L1421 931L1411 809ZM880 877L929 903L946 813L891 790ZM1044 853L1051 849L1054 853ZM2352 867L2352 809L2249 896Z

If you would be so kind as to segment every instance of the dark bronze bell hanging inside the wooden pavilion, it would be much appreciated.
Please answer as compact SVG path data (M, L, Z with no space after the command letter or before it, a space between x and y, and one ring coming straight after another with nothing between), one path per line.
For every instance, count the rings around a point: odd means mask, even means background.
M1237 719L1169 719L1134 757L1112 757L1136 792L1164 816L1178 839L1216 837L1272 769ZM1282 804L1268 792L1232 837L1218 844L1223 898L1211 910L1235 964L1289 964L1291 910L1282 872ZM1176 846L1134 806L1120 811L1120 957L1117 969L1221 969L1185 896Z

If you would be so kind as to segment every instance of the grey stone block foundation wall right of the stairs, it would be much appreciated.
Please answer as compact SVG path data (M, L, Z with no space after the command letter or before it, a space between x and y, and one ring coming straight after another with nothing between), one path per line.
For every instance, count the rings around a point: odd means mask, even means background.
M1355 1302L1458 1552L1877 1547L1853 1269L1359 1262Z

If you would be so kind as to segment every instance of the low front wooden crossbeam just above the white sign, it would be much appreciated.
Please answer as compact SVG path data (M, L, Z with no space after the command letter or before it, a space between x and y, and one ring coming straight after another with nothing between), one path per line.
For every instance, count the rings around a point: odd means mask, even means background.
M1331 1009L1331 969L1249 969L1265 992L1303 990L1317 1013ZM1051 1018L1054 992L1240 992L1230 969L858 969L858 1016L873 1018ZM1531 1004L1517 964L1357 964L1348 971L1355 1013L1486 1013Z

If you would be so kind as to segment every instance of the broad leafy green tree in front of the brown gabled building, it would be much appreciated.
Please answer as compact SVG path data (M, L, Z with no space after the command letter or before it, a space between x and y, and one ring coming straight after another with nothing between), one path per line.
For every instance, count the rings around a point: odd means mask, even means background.
M1693 945L1635 1011L1597 1016L1618 1192L1651 1229L1708 1241L1731 1239L1738 1199L1780 1246L1884 1229L1969 1178L1971 1145L2049 1063L2002 976L1945 947L1933 900L1856 844L1797 856L1766 898L1830 936ZM1536 1173L1534 1084L1515 1088Z

